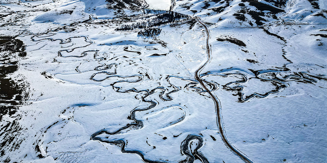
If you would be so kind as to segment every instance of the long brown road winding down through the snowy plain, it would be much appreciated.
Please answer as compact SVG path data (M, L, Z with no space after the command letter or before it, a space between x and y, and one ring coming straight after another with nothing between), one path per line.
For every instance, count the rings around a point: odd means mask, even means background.
M224 129L222 125L222 120L221 120L221 115L220 115L220 106L219 106L219 101L213 95L210 90L206 87L206 85L203 83L203 80L200 78L200 71L204 68L206 64L208 64L211 61L211 47L209 45L209 39L210 39L210 31L207 27L206 24L204 24L200 19L197 19L197 21L205 28L205 31L207 33L207 40L206 40L206 46L207 46L207 54L208 54L208 60L205 62L203 65L201 65L196 71L195 71L195 79L202 85L202 87L209 93L210 97L214 100L215 102L215 109L217 113L217 126L219 128L220 135L222 137L222 140L224 141L225 145L236 155L238 155L244 162L246 163L253 163L249 158L247 158L245 155L241 154L238 150L236 150L232 144L227 140L226 136L224 135Z

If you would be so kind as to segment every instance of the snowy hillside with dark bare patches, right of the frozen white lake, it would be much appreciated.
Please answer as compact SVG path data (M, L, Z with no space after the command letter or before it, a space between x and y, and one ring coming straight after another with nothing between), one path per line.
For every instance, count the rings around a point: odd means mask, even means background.
M177 1L175 11L226 26L262 26L271 23L325 23L326 1L212 0Z

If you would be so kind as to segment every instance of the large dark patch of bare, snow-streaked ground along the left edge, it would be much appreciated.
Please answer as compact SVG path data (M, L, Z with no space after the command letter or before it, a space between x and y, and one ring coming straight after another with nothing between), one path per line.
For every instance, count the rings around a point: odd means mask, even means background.
M27 84L17 78L19 60L26 56L24 43L13 36L0 36L0 157L5 157L7 150L16 150L23 141L20 133L23 128L18 124L19 106L24 104L27 96ZM10 121L4 117L11 118ZM10 158L5 158L10 162Z

